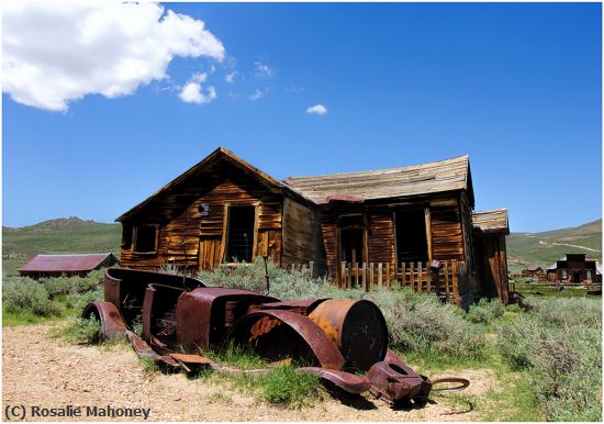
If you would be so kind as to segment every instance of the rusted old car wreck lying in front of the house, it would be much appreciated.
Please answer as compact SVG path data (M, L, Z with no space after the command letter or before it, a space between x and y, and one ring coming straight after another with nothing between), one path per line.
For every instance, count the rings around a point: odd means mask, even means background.
M211 346L237 343L273 364L305 364L297 371L313 373L332 388L369 391L394 404L425 403L437 383L458 383L441 389L448 391L470 383L416 373L388 349L385 320L368 300L281 302L249 290L206 287L193 278L123 268L107 270L104 297L83 311L85 317L101 322L103 341L127 336L139 356L187 372L270 372L225 367L200 355ZM141 335L130 330L138 320Z

